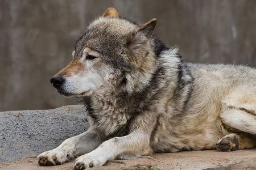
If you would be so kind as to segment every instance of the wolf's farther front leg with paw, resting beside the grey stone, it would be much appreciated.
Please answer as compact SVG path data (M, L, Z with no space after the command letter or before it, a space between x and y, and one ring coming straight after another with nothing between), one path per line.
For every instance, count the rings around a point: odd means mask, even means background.
M75 156L88 153L98 147L103 142L97 134L91 130L80 135L66 139L60 146L53 150L43 152L38 155L40 165L60 165Z

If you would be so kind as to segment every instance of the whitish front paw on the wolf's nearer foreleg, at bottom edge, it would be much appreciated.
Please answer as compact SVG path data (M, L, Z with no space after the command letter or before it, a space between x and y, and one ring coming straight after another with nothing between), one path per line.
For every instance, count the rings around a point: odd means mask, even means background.
M76 159L74 169L81 170L85 168L100 167L106 163L106 160L100 156L85 154Z

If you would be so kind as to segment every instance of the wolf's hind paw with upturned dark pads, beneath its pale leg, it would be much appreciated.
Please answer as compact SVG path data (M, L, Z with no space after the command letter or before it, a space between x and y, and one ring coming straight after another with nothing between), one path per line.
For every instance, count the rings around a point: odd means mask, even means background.
M238 136L236 134L225 135L225 137L218 140L218 142L216 143L216 147L218 150L222 151L238 150Z

